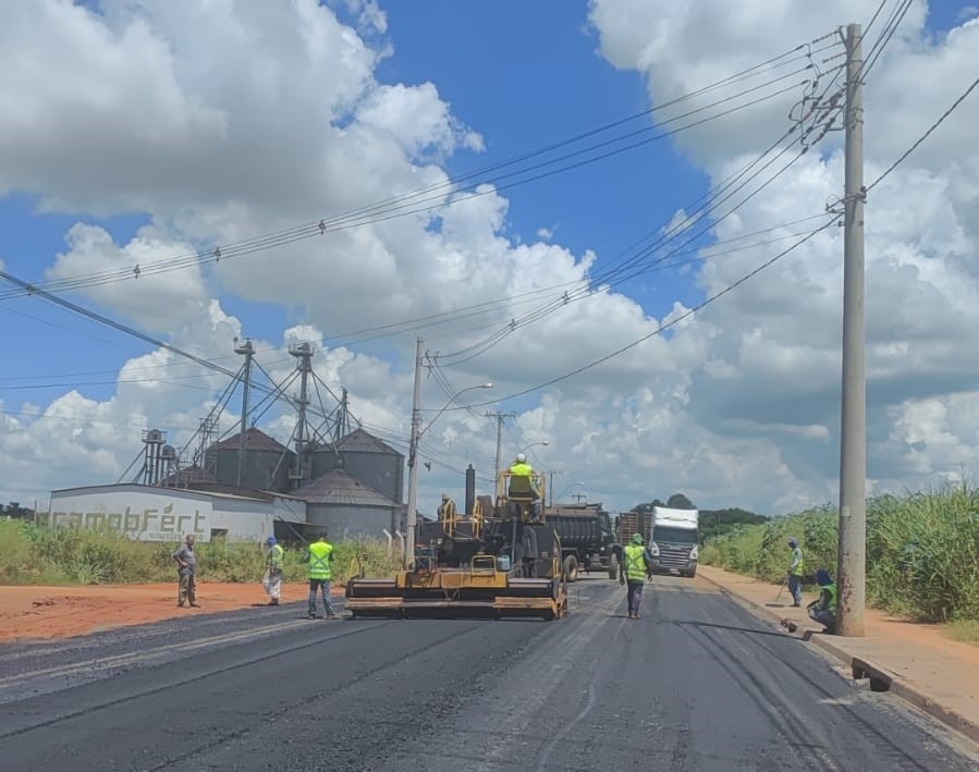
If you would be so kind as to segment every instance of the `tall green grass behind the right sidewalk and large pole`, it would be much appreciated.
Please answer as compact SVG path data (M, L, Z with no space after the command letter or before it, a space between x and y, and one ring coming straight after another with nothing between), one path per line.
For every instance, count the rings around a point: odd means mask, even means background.
M807 574L824 567L835 576L836 507L829 504L717 537L700 560L781 581L790 536L799 539ZM960 485L869 499L867 596L877 608L913 620L979 618L979 491Z

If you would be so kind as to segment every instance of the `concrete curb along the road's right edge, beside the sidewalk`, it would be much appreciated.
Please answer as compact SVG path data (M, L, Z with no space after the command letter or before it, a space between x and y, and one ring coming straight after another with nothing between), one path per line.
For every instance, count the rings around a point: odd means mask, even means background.
M908 684L907 682L900 678L895 678L893 675L891 675L891 673L889 673L880 665L877 665L865 658L857 657L856 654L846 651L846 649L843 648L843 646L841 646L837 641L832 640L824 634L822 634L821 628L808 627L805 625L795 625L793 628L790 628L790 621L782 617L778 612L774 612L771 609L758 603L758 601L752 600L751 598L748 598L741 592L726 587L725 585L722 585L720 581L710 578L702 572L698 575L702 576L707 581L720 589L724 595L727 595L732 599L737 600L738 605L744 606L756 616L762 616L778 621L779 624L793 633L801 632L801 635L798 636L800 640L812 644L813 646L818 646L820 649L832 654L845 665L847 665L853 673L854 681L869 678L870 688L872 691L890 691L896 697L902 698L909 704L913 704L918 710L927 713L932 719L941 722L945 726L965 735L974 743L979 743L979 723L967 719L966 716L952 710L951 708L946 708L934 700L933 697L928 695L920 687Z

